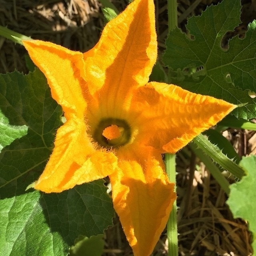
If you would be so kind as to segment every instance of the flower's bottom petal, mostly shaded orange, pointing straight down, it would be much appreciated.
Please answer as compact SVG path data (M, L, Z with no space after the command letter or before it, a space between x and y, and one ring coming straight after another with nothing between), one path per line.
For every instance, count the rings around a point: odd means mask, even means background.
M159 162L152 157L147 162L147 174L136 161L121 161L118 166L120 170L110 175L114 208L134 256L148 256L176 199L174 184L168 182ZM149 176L150 170L153 176Z

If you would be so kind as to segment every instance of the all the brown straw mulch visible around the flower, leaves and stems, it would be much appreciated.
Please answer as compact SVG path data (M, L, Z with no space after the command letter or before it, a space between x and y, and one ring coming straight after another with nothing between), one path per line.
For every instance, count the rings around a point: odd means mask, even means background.
M118 10L128 1L114 0ZM178 22L185 30L186 19L200 14L206 6L219 0L178 0ZM256 1L242 0L242 24L232 32L244 36L248 22L256 18ZM156 19L160 50L167 36L166 0L156 1ZM0 0L0 25L31 36L85 52L96 44L105 20L97 0ZM0 37L0 73L27 72L24 48ZM238 153L256 153L255 132L228 131L226 134ZM177 154L179 252L185 255L248 256L252 237L247 224L234 220L226 194L212 178L204 164L189 148ZM230 179L230 183L234 182ZM167 255L166 235L161 236L154 256ZM118 218L105 232L104 256L132 256Z

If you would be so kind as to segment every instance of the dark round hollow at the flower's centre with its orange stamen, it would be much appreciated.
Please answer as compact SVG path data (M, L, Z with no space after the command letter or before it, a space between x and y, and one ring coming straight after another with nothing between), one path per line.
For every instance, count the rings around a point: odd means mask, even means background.
M118 148L130 141L131 128L125 120L106 118L99 122L92 137L105 148Z

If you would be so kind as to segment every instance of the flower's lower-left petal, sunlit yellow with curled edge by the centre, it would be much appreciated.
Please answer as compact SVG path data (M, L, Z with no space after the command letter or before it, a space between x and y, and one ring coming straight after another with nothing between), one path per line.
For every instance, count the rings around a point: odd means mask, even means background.
M117 167L113 153L94 149L80 119L72 118L61 126L54 145L45 170L34 186L43 192L62 192L77 184L104 178Z

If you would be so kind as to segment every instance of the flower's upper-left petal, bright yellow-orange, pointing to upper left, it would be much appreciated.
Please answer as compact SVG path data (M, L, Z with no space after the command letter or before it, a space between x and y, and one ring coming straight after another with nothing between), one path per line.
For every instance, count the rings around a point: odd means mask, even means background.
M52 98L62 106L65 117L69 119L70 113L83 117L86 102L79 71L84 66L83 54L40 40L23 41L23 44L32 61L46 76Z

